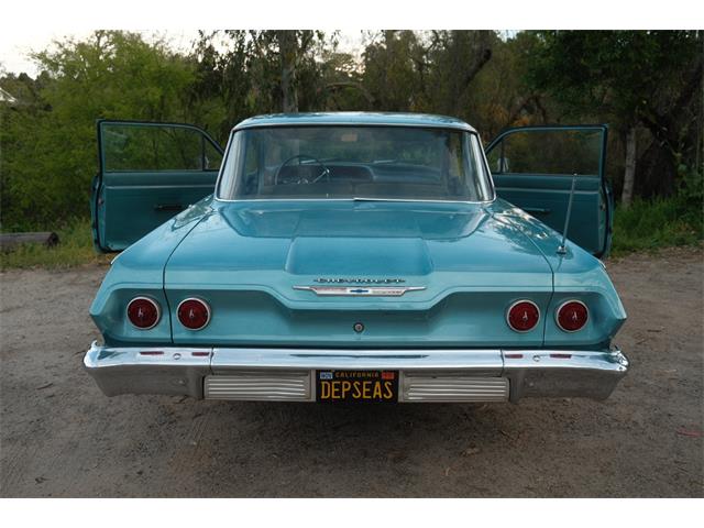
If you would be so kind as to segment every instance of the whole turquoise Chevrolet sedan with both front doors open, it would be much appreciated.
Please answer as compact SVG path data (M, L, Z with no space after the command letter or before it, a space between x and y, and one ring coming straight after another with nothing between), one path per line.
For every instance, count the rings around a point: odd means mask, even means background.
M95 242L124 251L85 366L109 396L606 398L628 369L594 256L606 132L509 129L485 155L452 118L264 116L223 154L195 127L100 121Z

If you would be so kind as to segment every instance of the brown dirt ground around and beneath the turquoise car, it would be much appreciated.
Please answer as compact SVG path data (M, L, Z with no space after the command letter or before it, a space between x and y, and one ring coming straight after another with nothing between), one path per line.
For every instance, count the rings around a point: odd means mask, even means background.
M388 407L107 398L81 369L106 268L0 273L0 495L701 497L704 254L607 268L608 400Z

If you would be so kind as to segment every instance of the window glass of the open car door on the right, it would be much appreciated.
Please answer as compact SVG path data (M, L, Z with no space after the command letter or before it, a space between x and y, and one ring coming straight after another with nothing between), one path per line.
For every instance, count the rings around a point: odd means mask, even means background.
M601 130L529 130L506 135L488 153L494 174L597 176Z

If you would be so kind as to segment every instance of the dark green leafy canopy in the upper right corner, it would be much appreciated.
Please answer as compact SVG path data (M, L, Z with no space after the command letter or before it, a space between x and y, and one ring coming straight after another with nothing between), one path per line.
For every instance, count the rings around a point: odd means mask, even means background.
M537 32L528 79L570 118L596 116L622 135L646 129L639 194L668 194L678 156L701 150L703 45L693 31Z

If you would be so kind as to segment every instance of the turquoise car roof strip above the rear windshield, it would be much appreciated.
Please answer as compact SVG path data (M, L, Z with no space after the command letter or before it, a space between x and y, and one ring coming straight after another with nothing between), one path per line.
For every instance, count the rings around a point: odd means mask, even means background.
M464 121L448 116L430 113L402 112L317 112L317 113L274 113L255 116L239 123L234 130L256 127L295 127L295 125L392 125L392 127L428 127L457 129L476 132Z

